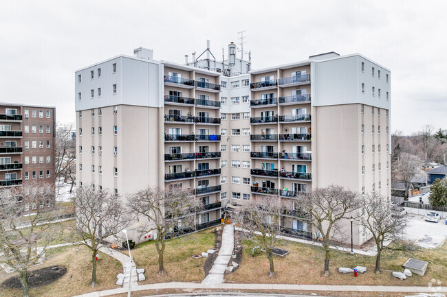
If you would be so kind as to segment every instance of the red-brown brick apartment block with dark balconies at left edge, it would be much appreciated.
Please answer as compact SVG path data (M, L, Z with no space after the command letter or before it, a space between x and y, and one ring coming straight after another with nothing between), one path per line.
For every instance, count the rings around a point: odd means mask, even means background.
M28 180L54 187L55 110L50 106L0 104L1 191ZM28 206L28 211L52 206L54 201L47 201Z

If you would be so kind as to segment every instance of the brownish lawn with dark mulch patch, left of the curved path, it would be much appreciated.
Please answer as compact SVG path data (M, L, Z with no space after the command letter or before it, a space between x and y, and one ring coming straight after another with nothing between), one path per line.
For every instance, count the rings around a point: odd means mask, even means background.
M102 254L100 252L98 259L98 270L96 276L96 287L90 287L91 281L91 254L89 249L84 246L69 246L48 250L46 261L41 265L34 266L34 269L40 269L47 266L63 265L67 268L67 273L50 285L30 289L33 297L65 297L93 292L103 289L112 289L118 287L116 275L122 272L122 266L119 261ZM0 271L0 283L14 274L6 274ZM6 289L1 287L2 297L22 296L22 291L18 289Z

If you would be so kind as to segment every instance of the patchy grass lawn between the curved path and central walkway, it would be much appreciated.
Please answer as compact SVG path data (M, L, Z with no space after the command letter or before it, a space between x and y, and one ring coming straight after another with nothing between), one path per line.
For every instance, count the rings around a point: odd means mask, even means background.
M165 274L158 275L158 253L155 243L148 241L131 250L137 268L144 268L147 283L164 283L169 281L201 282L205 278L205 258L193 259L193 254L201 254L214 247L214 229L203 230L190 235L166 241L164 250ZM124 252L124 251L123 251ZM125 252L125 254L128 254Z

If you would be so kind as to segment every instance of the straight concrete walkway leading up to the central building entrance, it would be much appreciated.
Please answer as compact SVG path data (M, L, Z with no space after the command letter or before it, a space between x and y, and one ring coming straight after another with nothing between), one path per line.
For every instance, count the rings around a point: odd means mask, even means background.
M234 226L226 225L223 227L222 231L222 244L219 250L219 254L217 259L214 261L214 265L210 270L210 273L206 276L204 281L201 283L204 285L218 285L223 283L223 274L228 266L228 262L230 262L232 253L233 253L233 245L234 245Z

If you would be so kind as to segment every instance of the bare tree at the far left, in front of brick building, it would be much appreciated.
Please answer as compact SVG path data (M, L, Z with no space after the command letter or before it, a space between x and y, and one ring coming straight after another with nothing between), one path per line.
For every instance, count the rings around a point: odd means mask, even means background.
M3 191L0 202L0 260L19 273L23 296L28 297L30 267L41 261L57 234L49 224L56 211L45 211L54 202L54 187L25 182Z

